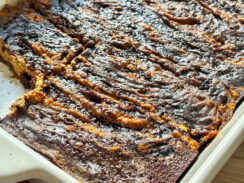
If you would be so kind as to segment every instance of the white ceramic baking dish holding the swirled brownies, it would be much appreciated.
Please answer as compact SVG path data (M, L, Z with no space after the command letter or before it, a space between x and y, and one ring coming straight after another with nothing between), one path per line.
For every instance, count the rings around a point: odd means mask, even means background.
M17 1L0 0L0 8L5 3L13 4ZM17 86L18 84L13 81L14 79L9 73L8 68L0 64L0 99L5 99L1 102L4 109L7 109L15 99L24 93L24 90ZM9 80L12 82L8 82ZM7 112L0 109L0 117L6 115ZM211 182L243 139L244 103L213 142L200 154L181 183ZM0 183L14 183L32 178L48 183L77 182L43 156L0 128Z

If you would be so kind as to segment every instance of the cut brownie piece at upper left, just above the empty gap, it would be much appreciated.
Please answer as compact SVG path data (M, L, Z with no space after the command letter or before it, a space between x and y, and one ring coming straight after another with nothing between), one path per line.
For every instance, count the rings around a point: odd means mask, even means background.
M21 78L60 70L82 50L81 44L27 5L0 19L1 57Z

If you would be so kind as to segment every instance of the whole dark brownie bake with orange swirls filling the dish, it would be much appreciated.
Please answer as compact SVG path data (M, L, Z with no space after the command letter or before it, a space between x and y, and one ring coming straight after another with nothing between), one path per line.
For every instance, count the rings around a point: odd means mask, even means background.
M31 91L0 126L79 181L179 181L243 98L241 2L20 7L0 55Z

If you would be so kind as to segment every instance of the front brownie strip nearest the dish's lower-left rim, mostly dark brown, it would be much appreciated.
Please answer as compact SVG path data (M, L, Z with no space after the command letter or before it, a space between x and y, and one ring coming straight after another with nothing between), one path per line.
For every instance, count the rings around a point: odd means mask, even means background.
M29 105L2 123L35 151L84 181L175 182L197 155L184 140L172 136L177 130L167 124L143 133L104 124L95 117L86 122L81 112L62 110L50 103Z

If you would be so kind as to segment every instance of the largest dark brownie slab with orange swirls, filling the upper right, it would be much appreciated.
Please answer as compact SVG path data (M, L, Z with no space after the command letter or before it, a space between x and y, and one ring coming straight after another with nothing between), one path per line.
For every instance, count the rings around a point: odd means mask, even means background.
M119 92L115 97L124 103L147 100L145 115L165 113L191 134L208 135L229 120L232 95L242 95L243 26L233 13L222 12L232 21L218 18L200 1L53 0L32 7L69 35L83 30L82 40L94 40L68 66L70 78L101 90L111 81L109 95ZM185 18L187 13L194 16Z

